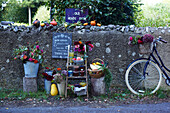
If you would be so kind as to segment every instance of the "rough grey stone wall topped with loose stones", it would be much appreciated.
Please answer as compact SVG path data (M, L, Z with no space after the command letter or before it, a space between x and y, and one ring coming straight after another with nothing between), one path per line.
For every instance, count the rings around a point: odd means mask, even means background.
M170 67L170 28L137 28L131 26L76 26L74 29L65 29L58 26L48 27L25 27L25 26L2 26L0 25L0 87L22 89L24 69L20 60L14 60L13 48L18 45L26 45L27 42L40 42L40 47L46 51L45 62L53 66L66 68L66 59L53 59L52 56L52 35L53 32L73 34L73 41L79 38L82 41L90 40L95 48L88 53L88 64L94 58L108 61L109 69L113 73L113 86L125 86L124 74L128 64L136 58L143 57L138 53L138 46L129 46L130 36L152 34L154 37L162 36L168 44L159 44L158 50L165 65ZM145 57L145 56L144 56ZM44 85L40 77L42 67L38 74L38 86ZM162 85L164 87L164 85ZM165 86L166 87L166 86Z

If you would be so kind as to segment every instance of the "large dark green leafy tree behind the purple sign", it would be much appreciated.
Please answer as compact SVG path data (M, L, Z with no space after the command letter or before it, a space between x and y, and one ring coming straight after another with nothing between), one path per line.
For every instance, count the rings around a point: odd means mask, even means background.
M50 5L51 1L48 2ZM108 24L134 24L134 13L140 4L136 0L53 0L53 18L63 23L65 8L88 9L88 21L96 20L104 25Z

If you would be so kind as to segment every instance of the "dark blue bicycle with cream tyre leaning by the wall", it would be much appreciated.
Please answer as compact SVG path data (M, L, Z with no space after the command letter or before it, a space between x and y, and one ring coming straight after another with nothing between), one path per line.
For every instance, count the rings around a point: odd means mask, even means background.
M157 42L167 43L161 36L152 42L151 53L148 58L140 58L129 64L125 73L125 82L128 89L137 95L155 93L162 82L162 76L165 82L170 86L170 77L167 72L170 72L156 49ZM154 55L156 54L156 57Z

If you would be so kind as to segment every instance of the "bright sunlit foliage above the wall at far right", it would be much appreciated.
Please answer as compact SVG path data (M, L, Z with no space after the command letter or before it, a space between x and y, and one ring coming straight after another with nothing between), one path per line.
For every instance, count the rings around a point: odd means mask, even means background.
M142 9L142 12L136 14L136 26L160 27L170 25L170 4L144 5Z

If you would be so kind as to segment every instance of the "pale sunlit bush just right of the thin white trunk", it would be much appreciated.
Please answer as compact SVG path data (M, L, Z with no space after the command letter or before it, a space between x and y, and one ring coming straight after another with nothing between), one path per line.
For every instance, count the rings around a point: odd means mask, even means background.
M49 22L50 20L50 11L47 10L47 7L45 6L40 6L33 18L33 21L38 19L40 22L46 21Z

